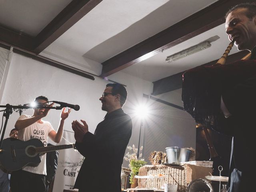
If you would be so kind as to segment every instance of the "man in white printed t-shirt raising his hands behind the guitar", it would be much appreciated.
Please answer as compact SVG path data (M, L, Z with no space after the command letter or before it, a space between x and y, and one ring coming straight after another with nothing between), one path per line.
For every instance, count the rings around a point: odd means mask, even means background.
M39 96L35 99L36 104L42 106L48 105L48 98ZM65 112L63 108L60 116L60 125L56 132L50 122L42 120L48 115L50 109L34 109L33 116L22 114L16 121L15 128L18 130L18 139L27 141L32 138L38 138L44 146L47 146L48 136L56 143L59 143L62 137L63 125L65 119L70 113L70 109ZM46 176L46 154L40 156L41 162L38 166L25 166L21 170L12 172L10 187L12 192L45 192Z

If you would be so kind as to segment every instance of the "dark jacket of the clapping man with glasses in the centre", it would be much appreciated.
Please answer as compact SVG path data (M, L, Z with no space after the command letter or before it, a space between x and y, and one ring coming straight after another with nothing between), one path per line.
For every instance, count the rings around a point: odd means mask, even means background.
M85 157L74 188L80 192L120 192L121 167L132 134L132 120L122 109L106 114L94 134L87 132L76 148Z

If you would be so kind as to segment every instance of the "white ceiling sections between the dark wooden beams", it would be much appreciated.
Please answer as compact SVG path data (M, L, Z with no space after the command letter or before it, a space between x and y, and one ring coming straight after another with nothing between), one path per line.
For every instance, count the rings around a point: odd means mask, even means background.
M60 48L102 63L216 1L103 0L46 48L46 51ZM36 36L71 0L0 2L0 24ZM220 38L211 42L210 48L176 62L165 62L166 56L214 36ZM228 43L222 24L122 72L153 82L220 58ZM237 52L235 48L231 53L234 52Z

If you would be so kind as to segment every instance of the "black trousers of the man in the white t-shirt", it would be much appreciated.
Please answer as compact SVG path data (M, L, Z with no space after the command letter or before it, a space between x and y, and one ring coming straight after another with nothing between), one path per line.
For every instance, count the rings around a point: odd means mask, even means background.
M45 175L23 170L11 174L10 187L12 192L45 192Z

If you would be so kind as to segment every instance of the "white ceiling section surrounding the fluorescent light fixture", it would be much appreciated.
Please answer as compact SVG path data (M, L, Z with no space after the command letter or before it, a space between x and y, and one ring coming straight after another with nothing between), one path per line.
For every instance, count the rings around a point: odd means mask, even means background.
M216 35L220 38L214 42L211 42L212 46L210 48L171 63L165 61L167 56L199 44L200 42L203 42L204 40ZM162 53L158 53L142 62L136 63L122 71L133 76L138 76L144 80L154 82L161 78L177 74L220 58L229 43L230 42L225 33L225 24L222 24L172 48L169 48L168 50L164 50ZM236 52L238 52L238 50L233 48L230 51L230 54Z

